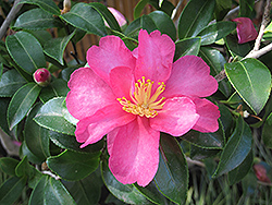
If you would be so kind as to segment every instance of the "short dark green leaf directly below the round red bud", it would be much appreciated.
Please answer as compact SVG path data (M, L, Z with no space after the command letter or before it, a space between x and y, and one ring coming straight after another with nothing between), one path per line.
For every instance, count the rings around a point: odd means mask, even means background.
M39 97L42 102L47 102L54 97L65 97L69 91L67 82L62 79L55 79L47 87L41 89Z

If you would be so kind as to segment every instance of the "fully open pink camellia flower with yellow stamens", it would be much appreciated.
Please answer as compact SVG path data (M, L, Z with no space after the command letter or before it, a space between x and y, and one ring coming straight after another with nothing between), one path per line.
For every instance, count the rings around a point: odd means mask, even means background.
M108 134L109 168L122 183L146 186L159 165L160 132L181 136L190 129L218 130L218 107L202 98L218 89L210 68L195 56L173 63L175 44L159 31L140 31L131 51L106 36L87 51L90 68L69 82L67 110L78 119L81 147Z

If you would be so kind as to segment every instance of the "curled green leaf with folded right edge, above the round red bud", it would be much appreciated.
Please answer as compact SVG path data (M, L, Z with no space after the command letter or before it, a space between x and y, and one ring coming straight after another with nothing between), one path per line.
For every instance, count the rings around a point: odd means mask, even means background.
M61 37L61 38L53 38L51 40L48 40L45 46L44 46L44 51L47 56L53 58L57 60L59 63L64 65L63 62L63 53L64 50L71 40L71 38L75 35L75 32L70 34L69 36Z

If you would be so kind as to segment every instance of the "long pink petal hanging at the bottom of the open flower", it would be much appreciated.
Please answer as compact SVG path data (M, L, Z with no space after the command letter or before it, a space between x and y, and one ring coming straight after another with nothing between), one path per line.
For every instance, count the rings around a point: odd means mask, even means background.
M108 137L111 137L108 135ZM109 167L121 183L146 186L154 177L159 165L160 132L152 130L146 118L120 128L114 140L108 140Z

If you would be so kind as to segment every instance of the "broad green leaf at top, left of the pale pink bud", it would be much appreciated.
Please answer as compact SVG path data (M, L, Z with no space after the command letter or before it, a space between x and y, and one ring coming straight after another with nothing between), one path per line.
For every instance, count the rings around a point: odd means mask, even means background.
M60 17L71 25L90 34L96 34L98 36L107 35L101 15L90 4L76 3L70 12Z

